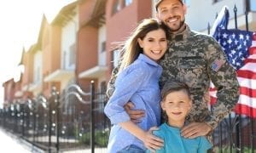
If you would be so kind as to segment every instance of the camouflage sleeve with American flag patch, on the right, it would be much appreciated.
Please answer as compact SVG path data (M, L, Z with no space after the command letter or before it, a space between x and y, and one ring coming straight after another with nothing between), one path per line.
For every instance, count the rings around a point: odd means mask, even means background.
M214 129L236 105L239 98L239 83L236 70L227 61L224 51L213 38L207 45L207 71L217 89L217 101L212 105L211 115L206 122Z

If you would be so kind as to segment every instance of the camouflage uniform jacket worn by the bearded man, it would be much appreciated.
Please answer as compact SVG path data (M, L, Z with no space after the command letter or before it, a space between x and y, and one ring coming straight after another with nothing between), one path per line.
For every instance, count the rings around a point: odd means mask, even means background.
M239 98L236 70L227 62L224 51L213 37L190 31L170 37L168 50L160 65L163 67L160 87L168 80L178 80L189 85L193 107L190 122L207 122L212 128L230 113ZM113 94L115 74L108 83L108 96ZM208 109L210 82L218 89L217 102Z

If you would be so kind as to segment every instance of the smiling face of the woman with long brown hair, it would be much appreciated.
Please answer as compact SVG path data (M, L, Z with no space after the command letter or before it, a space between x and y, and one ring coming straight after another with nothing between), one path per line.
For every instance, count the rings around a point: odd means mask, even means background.
M143 54L157 61L166 53L166 32L162 29L149 31L143 39L138 38L138 43L143 48Z

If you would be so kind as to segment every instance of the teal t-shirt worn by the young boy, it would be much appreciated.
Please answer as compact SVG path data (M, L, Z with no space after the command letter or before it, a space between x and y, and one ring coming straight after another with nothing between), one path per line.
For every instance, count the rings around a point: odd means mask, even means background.
M160 125L160 129L153 133L164 140L164 146L156 150L156 153L206 153L212 148L206 137L185 139L180 134L180 128L171 127L166 123ZM147 153L150 153L150 150L147 150Z

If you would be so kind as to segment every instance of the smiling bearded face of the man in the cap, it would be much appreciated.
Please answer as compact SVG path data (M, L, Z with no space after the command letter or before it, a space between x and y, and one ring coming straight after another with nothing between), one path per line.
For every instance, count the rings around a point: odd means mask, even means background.
M178 31L184 24L186 6L178 0L165 0L157 8L157 17L171 31Z

